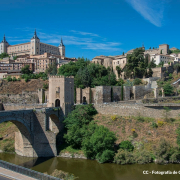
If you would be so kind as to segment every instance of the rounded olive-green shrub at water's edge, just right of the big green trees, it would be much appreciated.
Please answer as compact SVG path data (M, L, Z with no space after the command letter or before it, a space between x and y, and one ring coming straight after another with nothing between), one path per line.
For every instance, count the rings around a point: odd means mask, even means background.
M123 149L118 150L118 152L115 154L114 157L114 163L133 164L134 163L133 153Z

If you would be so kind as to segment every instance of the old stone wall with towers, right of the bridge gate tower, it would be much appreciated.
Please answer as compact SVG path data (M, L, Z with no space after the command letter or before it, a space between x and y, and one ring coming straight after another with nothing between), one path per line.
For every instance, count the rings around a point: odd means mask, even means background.
M95 88L76 88L76 104L117 102L143 99L152 89L146 86L96 86Z

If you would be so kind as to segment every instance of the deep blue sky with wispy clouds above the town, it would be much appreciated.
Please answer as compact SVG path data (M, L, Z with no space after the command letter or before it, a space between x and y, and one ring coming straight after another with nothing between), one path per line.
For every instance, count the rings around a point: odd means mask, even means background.
M0 40L58 46L67 57L119 55L167 43L180 48L179 0L0 0Z

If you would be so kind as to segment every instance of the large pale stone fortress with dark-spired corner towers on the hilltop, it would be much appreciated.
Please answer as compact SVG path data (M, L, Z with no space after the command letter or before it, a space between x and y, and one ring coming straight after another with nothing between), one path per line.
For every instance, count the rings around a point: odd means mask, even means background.
M10 45L6 41L4 35L4 38L0 43L0 54L8 53L9 55L12 56L19 56L25 54L40 55L40 54L44 54L45 52L65 57L65 46L63 44L63 40L61 39L61 42L58 47L50 44L42 43L40 42L40 39L38 38L35 30L34 36L31 38L30 42Z

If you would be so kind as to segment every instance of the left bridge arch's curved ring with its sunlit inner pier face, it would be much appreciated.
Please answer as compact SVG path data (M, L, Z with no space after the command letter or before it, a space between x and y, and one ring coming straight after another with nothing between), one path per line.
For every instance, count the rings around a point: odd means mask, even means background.
M31 126L29 126L23 119L14 117L1 117L0 123L12 122L18 128L18 132L15 132L15 152L21 156L33 157L33 133L31 132Z

